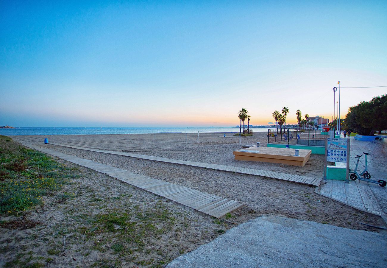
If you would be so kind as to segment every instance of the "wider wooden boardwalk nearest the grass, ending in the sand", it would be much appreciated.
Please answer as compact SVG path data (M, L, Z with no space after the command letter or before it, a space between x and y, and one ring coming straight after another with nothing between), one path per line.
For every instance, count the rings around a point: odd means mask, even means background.
M96 170L103 174L109 175L110 177L116 178L140 189L152 192L154 194L157 194L158 196L163 196L164 198L170 199L179 204L183 204L185 206L193 208L194 210L203 212L207 215L214 216L216 218L221 218L227 213L232 212L237 208L243 206L243 204L234 200L222 198L214 194L201 192L195 189L166 182L164 180L158 180L148 176L131 173L127 170L98 163L96 161L79 158L77 156L67 155L65 153L59 153L57 151L42 148L40 146L35 146L32 144L24 145L29 148L41 151L43 153L57 156L77 165L91 168L92 170Z

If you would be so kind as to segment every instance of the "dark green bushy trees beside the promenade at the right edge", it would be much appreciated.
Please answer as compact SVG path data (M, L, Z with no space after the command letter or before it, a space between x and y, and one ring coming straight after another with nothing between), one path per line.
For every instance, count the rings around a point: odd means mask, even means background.
M370 101L362 101L349 107L344 120L344 129L356 131L359 135L373 136L387 129L387 94L373 97Z

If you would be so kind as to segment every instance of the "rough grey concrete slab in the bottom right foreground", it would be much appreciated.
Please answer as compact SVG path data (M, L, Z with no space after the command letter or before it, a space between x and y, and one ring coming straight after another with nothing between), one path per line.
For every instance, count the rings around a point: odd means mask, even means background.
M387 235L262 216L184 254L168 268L387 267Z

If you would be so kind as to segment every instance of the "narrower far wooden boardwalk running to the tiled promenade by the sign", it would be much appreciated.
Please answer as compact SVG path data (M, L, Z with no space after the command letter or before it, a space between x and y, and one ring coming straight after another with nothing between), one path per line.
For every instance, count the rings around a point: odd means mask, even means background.
M134 157L134 158L146 159L146 160L187 165L187 166L192 166L192 167L202 167L202 168L209 168L209 169L221 170L221 171L226 171L226 172L235 172L235 173L240 173L240 174L262 176L262 177L267 177L267 178L271 178L271 179L286 180L289 182L296 182L296 183L300 183L300 184L307 184L310 186L317 186L317 187L320 186L320 182L321 182L321 178L286 174L286 173L267 171L267 170L259 170L259 169L255 169L255 168L242 168L242 167L217 165L217 164L201 163L201 162L186 161L186 160L177 160L177 159L170 159L170 158L164 158L164 157L158 157L158 156L138 155L138 154L134 154L134 153L91 149L91 148L86 148L86 147L72 146L72 145L60 144L60 143L50 143L50 144L68 147L68 148L86 150L86 151L93 151L93 152L98 152L98 153L108 153L108 154L112 154L112 155L123 155L123 156L129 156L129 157Z

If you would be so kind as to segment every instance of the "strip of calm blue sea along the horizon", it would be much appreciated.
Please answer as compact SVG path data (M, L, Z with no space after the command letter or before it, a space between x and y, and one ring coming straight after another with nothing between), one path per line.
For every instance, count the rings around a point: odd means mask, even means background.
M254 127L254 132L267 128ZM274 130L274 128L272 129ZM86 134L149 134L157 132L239 132L239 127L20 127L0 129L0 135L86 135Z

